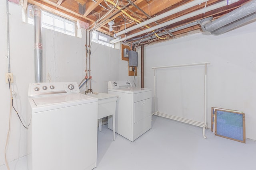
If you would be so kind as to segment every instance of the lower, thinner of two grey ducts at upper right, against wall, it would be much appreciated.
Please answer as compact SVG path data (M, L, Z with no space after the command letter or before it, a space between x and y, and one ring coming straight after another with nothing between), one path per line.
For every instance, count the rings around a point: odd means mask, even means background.
M235 27L243 25L244 23L247 23L254 19L256 19L256 12L254 12L253 14L250 14L249 16L246 16L245 18L241 18L240 20L237 20L228 25L225 25L224 27L218 28L218 29L212 31L211 34L212 35L220 35L220 34L226 33L228 31L230 31L231 29L234 29Z

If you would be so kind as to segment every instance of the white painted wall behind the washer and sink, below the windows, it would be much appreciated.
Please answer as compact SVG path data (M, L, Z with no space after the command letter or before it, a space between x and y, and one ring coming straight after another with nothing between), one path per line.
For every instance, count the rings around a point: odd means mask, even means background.
M34 82L34 27L22 22L22 7L9 2L10 12L10 63L14 75L12 88L16 92L14 106L22 120L28 124L28 84ZM4 146L8 132L10 92L5 82L7 64L6 3L0 5L0 166L4 162ZM52 30L42 30L43 80L44 82L82 81L86 69L85 30L82 38L72 37ZM128 77L127 62L121 61L120 50L92 44L91 75L94 92L107 92L109 80ZM115 69L114 69L115 68ZM84 89L81 90L81 93ZM26 129L12 110L10 140L7 149L8 162L27 154Z

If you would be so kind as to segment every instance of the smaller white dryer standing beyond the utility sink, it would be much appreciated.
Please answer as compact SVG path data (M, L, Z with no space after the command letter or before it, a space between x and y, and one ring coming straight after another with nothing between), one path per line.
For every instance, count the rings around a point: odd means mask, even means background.
M133 88L129 80L108 82L108 93L117 95L116 133L134 141L151 129L151 90ZM113 129L112 117L108 128Z

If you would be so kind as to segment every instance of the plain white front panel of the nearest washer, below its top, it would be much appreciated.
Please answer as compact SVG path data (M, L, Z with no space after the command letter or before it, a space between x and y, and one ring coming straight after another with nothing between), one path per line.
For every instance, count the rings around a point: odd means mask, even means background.
M91 170L97 160L98 102L32 113L30 170Z

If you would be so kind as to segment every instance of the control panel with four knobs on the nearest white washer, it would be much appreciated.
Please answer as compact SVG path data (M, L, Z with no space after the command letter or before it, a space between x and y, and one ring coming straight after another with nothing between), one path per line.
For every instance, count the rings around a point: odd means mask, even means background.
M44 96L54 94L79 93L77 82L40 82L30 83L28 87L28 97Z

